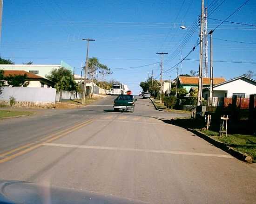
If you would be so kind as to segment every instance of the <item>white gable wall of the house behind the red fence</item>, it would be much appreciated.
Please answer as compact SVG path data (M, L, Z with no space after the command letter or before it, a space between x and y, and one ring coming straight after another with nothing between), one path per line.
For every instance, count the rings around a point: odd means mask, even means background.
M213 89L214 92L217 90L227 91L227 97L232 97L233 93L245 93L246 96L256 94L256 86L241 79L220 85Z

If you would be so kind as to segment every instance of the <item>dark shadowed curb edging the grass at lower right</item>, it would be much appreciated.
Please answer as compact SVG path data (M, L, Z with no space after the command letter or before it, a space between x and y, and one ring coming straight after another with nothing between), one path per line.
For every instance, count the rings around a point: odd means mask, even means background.
M226 145L223 142L214 140L213 138L209 137L207 134L204 134L198 130L194 130L191 128L188 128L188 130L190 132L196 134L197 136L201 137L202 139L208 141L209 143L213 144L215 147L218 147L218 148L222 149L223 151L225 151L226 153L229 153L236 159L239 159L239 160L247 162L247 163L252 163L252 161L253 161L252 156L249 156L246 153L239 152L239 151L233 149L232 147L229 147L228 145Z

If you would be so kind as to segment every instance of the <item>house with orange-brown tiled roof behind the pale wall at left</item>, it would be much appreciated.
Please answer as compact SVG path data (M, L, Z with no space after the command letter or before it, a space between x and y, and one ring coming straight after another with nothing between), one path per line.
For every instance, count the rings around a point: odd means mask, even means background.
M27 75L27 81L29 84L27 87L37 87L37 88L52 88L54 87L54 82L40 77L38 75L32 74L30 72L24 71L24 70L4 70L4 76L8 77L10 75ZM7 82L4 82L5 85L7 85Z

